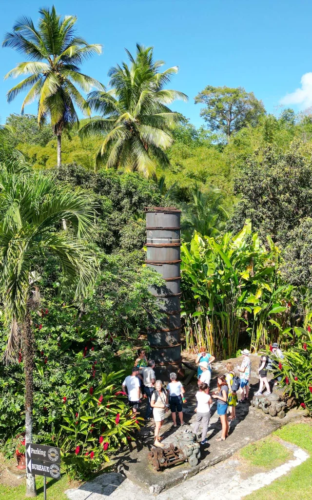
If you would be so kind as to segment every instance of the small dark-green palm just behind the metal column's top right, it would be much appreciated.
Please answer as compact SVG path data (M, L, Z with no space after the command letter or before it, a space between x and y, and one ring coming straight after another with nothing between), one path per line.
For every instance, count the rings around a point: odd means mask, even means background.
M216 236L225 228L228 219L220 189L211 187L202 192L195 185L191 191L191 201L182 205L183 238L190 241L194 231L202 236Z

